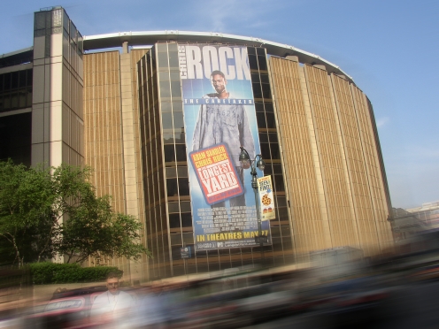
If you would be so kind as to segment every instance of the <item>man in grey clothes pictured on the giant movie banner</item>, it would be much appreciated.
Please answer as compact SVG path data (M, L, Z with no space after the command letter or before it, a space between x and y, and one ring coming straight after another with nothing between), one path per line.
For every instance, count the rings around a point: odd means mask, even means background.
M218 70L213 71L211 83L216 92L203 96L206 102L201 105L196 119L192 150L225 143L232 157L236 154L234 165L243 183L243 169L248 167L243 168L239 161L237 155L240 147L244 146L250 157L255 157L255 143L250 131L247 112L243 104L215 102L216 99L233 98L227 91L227 80L224 73ZM229 199L229 202L231 208L245 206L245 195L235 196ZM225 206L226 203L222 201L213 204L212 208Z

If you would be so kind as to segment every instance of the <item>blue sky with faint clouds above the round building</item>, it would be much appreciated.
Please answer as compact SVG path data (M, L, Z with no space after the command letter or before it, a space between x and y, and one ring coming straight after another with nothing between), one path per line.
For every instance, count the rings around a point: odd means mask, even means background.
M324 57L374 105L393 206L439 200L438 1L4 0L0 54L31 46L33 12L53 5L65 7L83 35L212 31Z

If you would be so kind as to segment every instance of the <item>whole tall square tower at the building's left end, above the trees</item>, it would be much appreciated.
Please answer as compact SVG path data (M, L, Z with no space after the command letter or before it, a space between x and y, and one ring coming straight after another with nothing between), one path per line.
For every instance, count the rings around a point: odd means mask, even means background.
M64 9L35 12L32 165L82 164L81 42Z

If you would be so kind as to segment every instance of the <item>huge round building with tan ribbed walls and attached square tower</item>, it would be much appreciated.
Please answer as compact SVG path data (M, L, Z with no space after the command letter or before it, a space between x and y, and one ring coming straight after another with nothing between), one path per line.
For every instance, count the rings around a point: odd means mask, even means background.
M210 84L214 76L227 80L228 101ZM34 47L0 57L0 83L0 157L93 167L97 193L144 224L153 257L109 260L132 278L225 270L262 256L270 266L293 264L337 247L370 256L393 243L372 103L338 66L304 50L218 33L81 36L54 7L35 12ZM194 146L214 108L243 113L252 139L241 146L254 142L250 156L266 163L258 176L272 177L275 216L263 222L263 250L250 236L258 234L250 171L237 161L240 149L228 149L237 141L224 129L215 138L227 146L221 158L235 167L228 173L245 201L210 203L196 176L199 149L218 146ZM205 247L204 239L214 242Z

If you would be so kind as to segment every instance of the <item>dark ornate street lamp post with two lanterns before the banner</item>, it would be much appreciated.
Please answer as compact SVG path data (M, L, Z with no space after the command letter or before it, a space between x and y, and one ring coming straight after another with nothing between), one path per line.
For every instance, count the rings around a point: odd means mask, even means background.
M251 187L253 187L253 191L255 193L255 204L256 204L256 216L258 218L258 236L255 237L255 241L259 241L259 248L261 253L261 264L265 265L265 256L264 256L264 239L266 236L262 236L262 222L260 218L260 207L259 207L259 198L258 198L258 173L256 172L256 167L259 170L263 171L266 167L266 163L262 159L260 154L256 155L254 160L250 160L249 152L241 146L241 153L239 155L239 161L243 166L243 169L251 168ZM258 161L257 161L258 160Z

